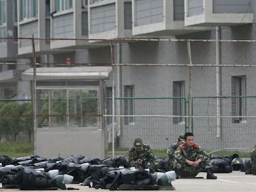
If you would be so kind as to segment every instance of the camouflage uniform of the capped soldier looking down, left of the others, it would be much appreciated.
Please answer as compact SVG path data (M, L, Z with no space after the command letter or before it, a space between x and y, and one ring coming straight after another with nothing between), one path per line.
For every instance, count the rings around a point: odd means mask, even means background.
M153 165L153 161L155 159L155 156L150 149L150 146L144 143L142 144L142 147L140 149L137 149L135 146L130 148L128 155L129 166L135 168L147 169L148 163ZM142 159L142 164L137 164L136 161L138 159Z

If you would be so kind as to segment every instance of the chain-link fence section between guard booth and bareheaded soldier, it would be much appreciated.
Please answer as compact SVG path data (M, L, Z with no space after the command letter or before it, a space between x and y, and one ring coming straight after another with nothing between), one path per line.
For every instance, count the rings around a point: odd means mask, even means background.
M153 149L166 149L186 131L186 98L116 98L115 101L116 110L121 113L114 117L113 127L111 111L107 110L106 122L109 143L114 128L120 148L130 148L139 137ZM107 102L112 107L112 99Z

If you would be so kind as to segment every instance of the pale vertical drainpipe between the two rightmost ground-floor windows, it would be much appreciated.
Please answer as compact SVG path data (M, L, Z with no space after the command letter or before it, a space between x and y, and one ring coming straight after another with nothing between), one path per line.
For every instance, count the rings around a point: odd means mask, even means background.
M216 65L221 64L221 28L216 27ZM216 66L216 96L221 96L221 67ZM216 100L217 138L221 138L221 98Z

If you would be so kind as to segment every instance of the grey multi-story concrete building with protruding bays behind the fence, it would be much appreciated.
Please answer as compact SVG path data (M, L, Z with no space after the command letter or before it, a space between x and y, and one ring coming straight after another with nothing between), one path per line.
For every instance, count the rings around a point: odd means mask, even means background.
M113 57L111 57L110 43L104 39L122 38L123 40L113 41L114 63L158 64L158 66L115 67L115 96L118 98L181 97L182 99L169 99L169 104L164 104L167 107L164 112L158 104L157 107L148 107L139 111L141 108L139 101L117 100L116 114L169 114L177 117L160 117L158 120L154 120L156 117L117 118L114 127L120 146L128 147L135 137L141 136L153 148L164 148L169 142L175 141L185 128L186 130L194 128L194 132L200 135L199 142L203 142L208 149L231 148L231 143L232 148L252 146L252 142L236 144L233 138L240 135L243 136L243 141L248 141L256 136L254 130L256 119L245 118L245 116L254 116L255 99L244 97L256 95L256 70L255 67L230 65L254 65L255 43L219 40L256 39L255 1L2 0L0 2L1 36L14 36L17 33L20 38L32 36L51 38L51 40L35 41L37 62L65 63L69 58L71 63L111 63ZM155 38L155 41L129 40L140 37ZM79 40L54 40L54 38ZM158 39L159 41L156 41ZM189 52L187 41L178 40L190 39L198 41L190 42ZM16 62L15 69L22 69L18 65L19 62L33 61L31 40L1 41L1 61ZM177 65L163 66L168 64ZM200 67L188 67L187 64L200 64ZM227 67L209 67L216 64ZM25 90L30 90L28 84L17 83L22 80L19 75L17 77L14 75L14 69L7 69L6 65L1 66L1 74L4 74L0 75L1 90L17 91L21 90L19 86L25 85L27 87ZM53 66L48 65L48 67ZM26 65L25 69L27 69ZM111 96L112 79L107 81L107 86L107 95ZM25 94L28 95L28 92ZM2 93L1 91L3 98ZM184 100L187 96L239 97L231 97L223 101L211 98L213 106L210 106L210 98L195 98L194 115L206 117L189 121L182 117L185 114L192 115L192 111L187 111L192 104L189 102L188 105ZM124 106L122 107L121 104ZM211 108L211 112L207 107ZM106 111L111 114L111 110L112 102L108 101ZM220 115L226 117L219 119ZM234 117L229 117L231 115ZM112 120L106 119L106 124L111 128ZM210 136L208 143L205 141L205 136ZM160 141L160 137L164 140ZM218 144L213 146L213 143Z

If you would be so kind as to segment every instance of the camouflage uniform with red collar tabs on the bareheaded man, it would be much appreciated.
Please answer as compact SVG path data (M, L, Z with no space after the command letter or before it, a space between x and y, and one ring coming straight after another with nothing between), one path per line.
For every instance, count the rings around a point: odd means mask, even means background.
M203 151L198 144L193 144L190 148L186 144L181 144L174 153L175 162L174 167L179 169L179 176L181 177L195 177L203 168L211 168L210 159L207 152ZM185 160L197 161L202 159L202 162L197 167L186 164Z

